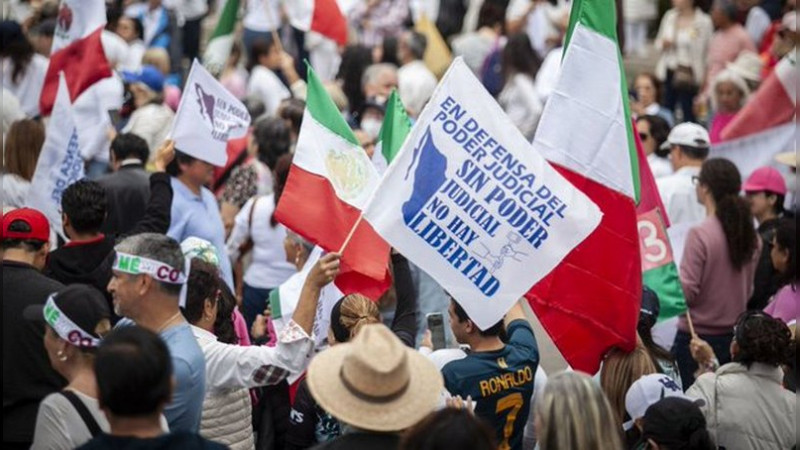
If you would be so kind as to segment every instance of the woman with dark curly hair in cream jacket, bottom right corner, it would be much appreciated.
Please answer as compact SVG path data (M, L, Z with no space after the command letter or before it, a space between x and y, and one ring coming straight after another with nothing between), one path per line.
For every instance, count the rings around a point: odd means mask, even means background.
M719 448L788 449L795 442L797 398L782 386L783 365L796 360L789 327L761 311L739 317L730 352L733 361L706 373L686 391L703 400L700 409ZM704 342L698 359L712 357Z

